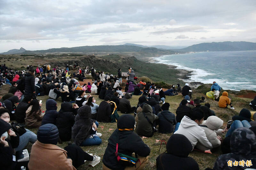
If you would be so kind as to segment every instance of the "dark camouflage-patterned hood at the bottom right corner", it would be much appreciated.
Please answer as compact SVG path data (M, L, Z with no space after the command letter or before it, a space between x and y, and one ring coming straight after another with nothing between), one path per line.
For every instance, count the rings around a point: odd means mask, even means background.
M230 151L235 154L249 155L256 152L256 137L248 128L238 128L230 137Z

